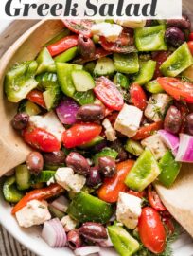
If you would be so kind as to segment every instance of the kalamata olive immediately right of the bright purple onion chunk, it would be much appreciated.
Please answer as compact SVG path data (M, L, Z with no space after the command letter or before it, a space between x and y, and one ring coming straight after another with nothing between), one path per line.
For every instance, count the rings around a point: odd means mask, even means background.
M105 109L99 104L87 104L79 108L77 119L81 121L97 121L104 119Z

